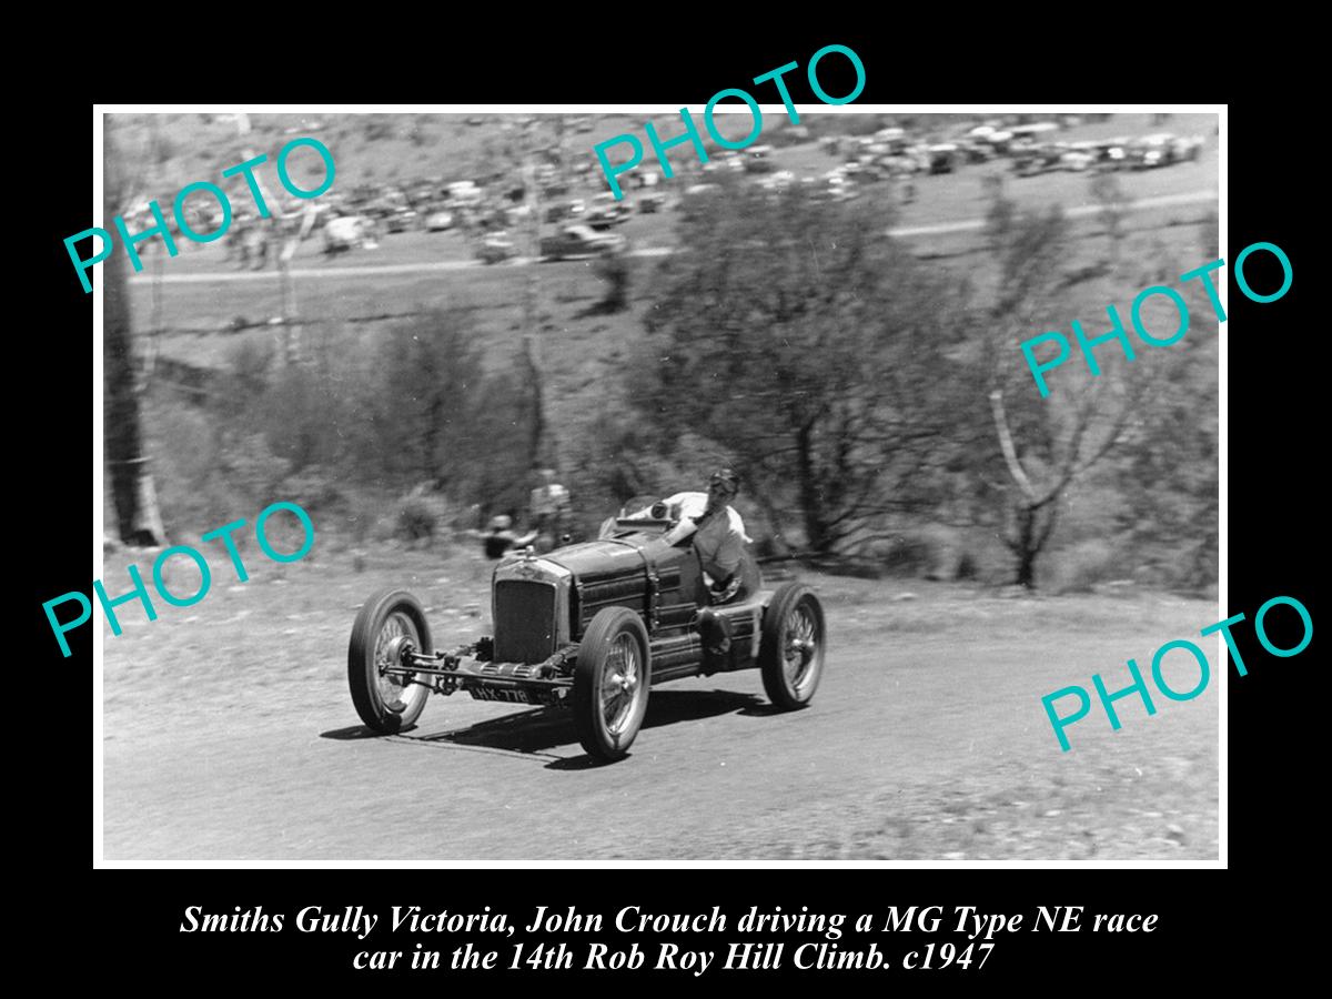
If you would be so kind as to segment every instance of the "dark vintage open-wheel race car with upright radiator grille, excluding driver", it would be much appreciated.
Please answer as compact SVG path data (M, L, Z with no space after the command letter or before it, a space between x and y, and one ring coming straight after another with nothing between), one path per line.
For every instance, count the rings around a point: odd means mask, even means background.
M765 589L746 551L747 594L717 603L691 535L665 501L626 507L601 537L496 566L494 635L436 650L425 611L405 590L381 590L352 627L348 682L377 733L410 727L430 691L480 701L559 705L582 747L621 759L647 711L649 689L685 677L758 667L781 709L809 703L823 674L823 607L801 582Z

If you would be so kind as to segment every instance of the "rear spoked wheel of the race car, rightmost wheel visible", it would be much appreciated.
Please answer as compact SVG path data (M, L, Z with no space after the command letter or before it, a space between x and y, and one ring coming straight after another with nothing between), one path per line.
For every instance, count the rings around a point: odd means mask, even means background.
M823 675L823 605L805 583L783 583L763 614L758 659L763 690L778 707L803 707Z

